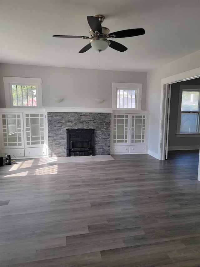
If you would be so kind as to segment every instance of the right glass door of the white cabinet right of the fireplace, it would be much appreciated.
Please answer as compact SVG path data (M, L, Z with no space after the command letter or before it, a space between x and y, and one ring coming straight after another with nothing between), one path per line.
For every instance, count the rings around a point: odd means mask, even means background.
M145 142L145 120L146 115L131 115L131 144Z

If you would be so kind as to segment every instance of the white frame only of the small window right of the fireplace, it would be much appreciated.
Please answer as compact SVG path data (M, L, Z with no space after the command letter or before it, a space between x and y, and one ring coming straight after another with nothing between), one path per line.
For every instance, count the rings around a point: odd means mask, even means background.
M112 83L112 87L113 87L113 110L123 110L123 111L141 110L143 84ZM117 107L117 90L135 90L136 91L135 108L118 108Z

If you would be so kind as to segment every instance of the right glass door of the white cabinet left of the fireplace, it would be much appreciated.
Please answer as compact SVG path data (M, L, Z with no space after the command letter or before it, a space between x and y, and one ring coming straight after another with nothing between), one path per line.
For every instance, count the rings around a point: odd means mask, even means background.
M24 116L25 147L44 146L44 113L26 113Z

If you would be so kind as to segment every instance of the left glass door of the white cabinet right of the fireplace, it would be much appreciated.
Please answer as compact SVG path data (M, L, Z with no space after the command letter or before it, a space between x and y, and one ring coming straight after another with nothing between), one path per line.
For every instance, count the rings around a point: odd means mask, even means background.
M113 115L113 143L128 143L128 115Z

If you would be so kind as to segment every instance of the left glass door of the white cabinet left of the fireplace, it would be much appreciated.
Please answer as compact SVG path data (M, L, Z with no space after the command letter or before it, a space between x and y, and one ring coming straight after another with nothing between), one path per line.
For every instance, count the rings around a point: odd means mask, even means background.
M2 148L23 147L23 121L22 113L1 114L2 123Z

